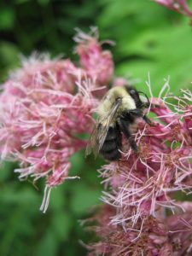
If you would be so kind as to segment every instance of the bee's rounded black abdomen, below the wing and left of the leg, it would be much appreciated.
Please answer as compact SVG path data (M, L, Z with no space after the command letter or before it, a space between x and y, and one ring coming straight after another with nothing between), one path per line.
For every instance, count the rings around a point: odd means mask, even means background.
M108 135L102 145L100 153L106 160L119 160L121 148L121 133L118 125L113 125L108 129Z

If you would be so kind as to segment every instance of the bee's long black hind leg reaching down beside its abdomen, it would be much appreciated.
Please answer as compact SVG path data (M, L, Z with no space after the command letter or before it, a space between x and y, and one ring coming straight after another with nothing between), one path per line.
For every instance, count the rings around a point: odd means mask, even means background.
M125 135L125 137L128 139L131 148L135 151L138 152L138 148L137 148L137 144L134 140L134 138L131 136L131 131L129 130L130 128L130 124L128 121L126 121L125 119L119 118L117 119L117 123L119 125L119 130L121 132L123 132L123 134Z

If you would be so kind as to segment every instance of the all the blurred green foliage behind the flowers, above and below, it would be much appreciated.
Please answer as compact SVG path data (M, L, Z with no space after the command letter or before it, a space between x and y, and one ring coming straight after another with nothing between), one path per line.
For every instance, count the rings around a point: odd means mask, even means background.
M171 77L172 91L189 87L192 45L189 20L151 1L131 0L12 0L0 1L0 80L19 65L18 55L48 51L76 59L73 28L85 32L98 26L101 39L116 42L110 47L115 73L140 79L144 85L150 73L152 90L158 94ZM71 175L51 192L46 214L39 212L44 183L35 188L20 183L15 164L4 163L0 172L0 255L85 255L79 240L90 241L78 220L89 216L99 203L102 186L96 169L102 160L84 160L84 152L72 158Z

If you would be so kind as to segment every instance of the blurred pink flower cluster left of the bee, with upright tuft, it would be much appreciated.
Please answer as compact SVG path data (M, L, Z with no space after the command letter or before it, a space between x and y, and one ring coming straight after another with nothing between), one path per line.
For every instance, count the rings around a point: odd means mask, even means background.
M10 75L0 96L1 158L19 161L20 179L46 178L44 212L50 189L73 178L69 159L85 147L79 136L94 124L94 93L101 94L113 78L112 55L102 50L96 30L79 31L75 40L79 66L34 54Z

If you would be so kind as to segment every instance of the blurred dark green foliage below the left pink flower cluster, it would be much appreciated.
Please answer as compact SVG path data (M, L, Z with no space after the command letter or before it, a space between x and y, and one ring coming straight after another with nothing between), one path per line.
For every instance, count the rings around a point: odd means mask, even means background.
M71 175L80 180L67 181L51 192L49 210L39 212L44 184L19 183L13 173L15 166L6 162L0 172L0 255L85 255L79 240L88 234L79 219L89 216L90 207L97 205L102 187L96 164L86 160L84 152L73 155Z

